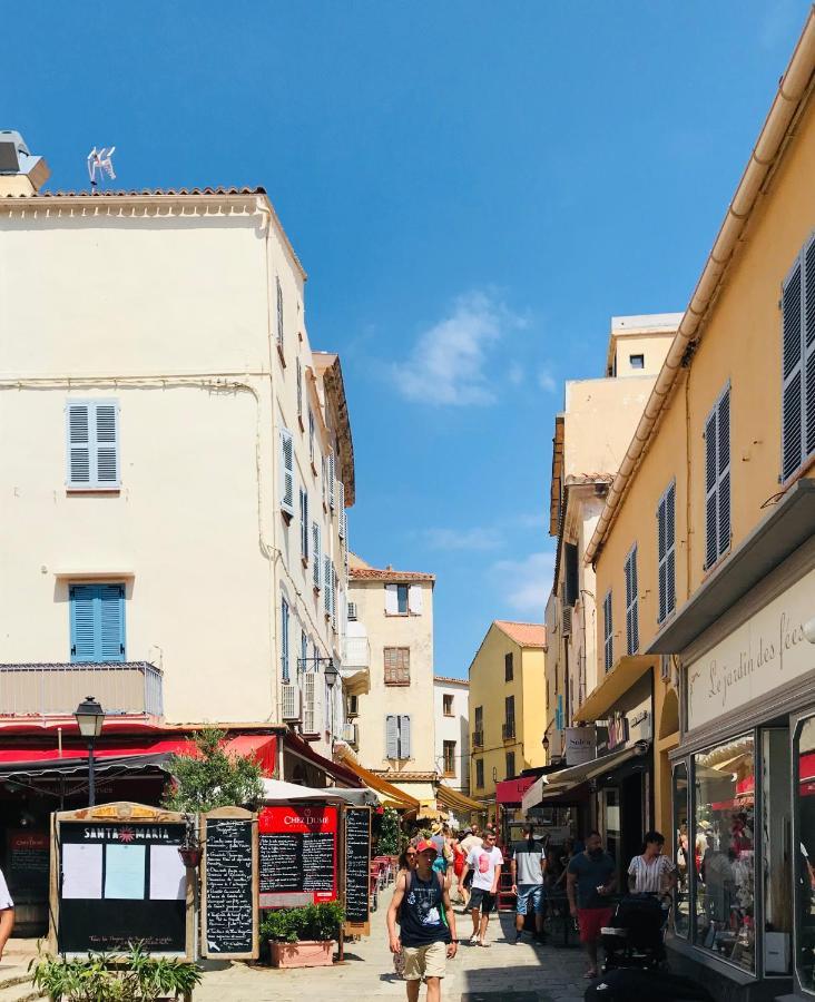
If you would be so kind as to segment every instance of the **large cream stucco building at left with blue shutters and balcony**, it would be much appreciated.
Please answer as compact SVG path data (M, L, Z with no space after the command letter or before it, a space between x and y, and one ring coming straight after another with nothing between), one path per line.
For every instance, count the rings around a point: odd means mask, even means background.
M92 691L328 749L354 456L268 197L46 196L24 163L0 177L0 713Z

